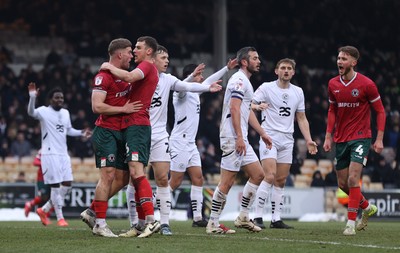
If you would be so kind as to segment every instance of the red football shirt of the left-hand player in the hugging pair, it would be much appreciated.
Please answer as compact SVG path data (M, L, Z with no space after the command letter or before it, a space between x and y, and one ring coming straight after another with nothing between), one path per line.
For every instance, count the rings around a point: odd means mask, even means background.
M114 77L109 71L100 70L95 76L93 92L105 92L104 103L112 106L123 106L128 100L131 85ZM95 125L112 130L121 130L121 119L123 114L103 115L97 118Z

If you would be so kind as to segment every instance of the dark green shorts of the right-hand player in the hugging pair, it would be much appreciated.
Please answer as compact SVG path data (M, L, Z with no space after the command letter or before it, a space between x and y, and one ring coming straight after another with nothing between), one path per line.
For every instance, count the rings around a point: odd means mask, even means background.
M126 162L136 161L147 166L150 156L151 126L129 126L123 130L126 141Z

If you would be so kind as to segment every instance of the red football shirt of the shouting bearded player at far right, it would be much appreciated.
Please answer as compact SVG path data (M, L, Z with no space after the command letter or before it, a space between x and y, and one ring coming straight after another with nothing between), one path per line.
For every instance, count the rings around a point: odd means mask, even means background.
M371 104L380 100L375 83L356 73L347 83L336 76L328 84L329 102L336 107L335 142L371 138Z

